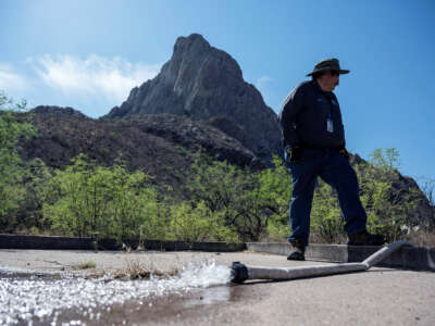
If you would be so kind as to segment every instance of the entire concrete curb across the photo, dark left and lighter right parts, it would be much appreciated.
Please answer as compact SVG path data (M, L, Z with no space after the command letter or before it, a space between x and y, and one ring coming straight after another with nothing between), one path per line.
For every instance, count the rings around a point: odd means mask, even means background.
M124 243L132 249L139 244L138 240L127 240ZM42 237L18 236L0 234L0 249L48 249L48 250L95 250L96 242L92 238L73 237ZM228 243L228 242L188 242L188 241L158 241L145 240L145 250L157 251L208 251L208 252L236 252L250 250L279 255L289 254L288 243ZM123 243L115 239L100 239L98 250L122 250ZM330 262L362 262L380 247L356 247L344 244L310 244L307 247L306 258L312 261ZM393 253L376 266L400 267L422 271L435 271L435 248L403 247Z

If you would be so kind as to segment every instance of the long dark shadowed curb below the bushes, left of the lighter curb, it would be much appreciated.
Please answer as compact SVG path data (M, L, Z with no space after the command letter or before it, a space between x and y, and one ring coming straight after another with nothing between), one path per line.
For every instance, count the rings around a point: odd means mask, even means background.
M138 240L124 241L125 246L136 249ZM188 242L188 241L158 241L145 240L145 250L160 251L209 251L234 252L246 250L246 243L229 242ZM47 236L17 236L1 235L0 249L48 249L48 250L95 250L96 242L92 238L47 237ZM115 239L98 240L98 250L122 250L123 243Z

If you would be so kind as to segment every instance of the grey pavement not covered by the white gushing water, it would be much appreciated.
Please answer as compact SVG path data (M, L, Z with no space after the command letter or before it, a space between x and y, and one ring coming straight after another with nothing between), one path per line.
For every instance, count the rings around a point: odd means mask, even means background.
M252 252L0 250L1 267L39 272L67 271L87 261L95 262L97 269L124 268L137 261L165 272L209 259L223 265L233 261L283 267L325 264ZM116 321L129 325L435 325L435 273L375 267L289 281L251 280L156 299L132 314L114 308L101 325Z

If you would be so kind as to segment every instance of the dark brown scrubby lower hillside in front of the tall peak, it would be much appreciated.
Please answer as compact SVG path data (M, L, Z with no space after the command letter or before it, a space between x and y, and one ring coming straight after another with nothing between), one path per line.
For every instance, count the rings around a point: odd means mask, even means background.
M256 164L254 154L220 129L188 117L159 114L126 120L92 120L71 108L37 106L29 113L38 136L23 143L24 160L39 158L62 167L85 153L103 165L116 159L129 170L154 176L156 183L183 183L191 154L203 151L239 166Z

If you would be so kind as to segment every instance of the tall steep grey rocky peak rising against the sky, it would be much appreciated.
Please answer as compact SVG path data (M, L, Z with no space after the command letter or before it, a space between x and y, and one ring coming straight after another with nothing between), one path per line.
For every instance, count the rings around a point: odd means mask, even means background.
M132 89L128 99L103 118L162 113L206 121L261 160L279 152L276 114L244 80L237 62L198 34L179 37L160 74Z

